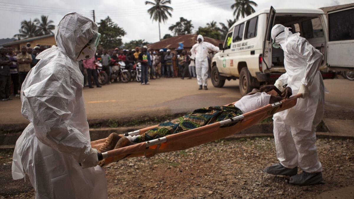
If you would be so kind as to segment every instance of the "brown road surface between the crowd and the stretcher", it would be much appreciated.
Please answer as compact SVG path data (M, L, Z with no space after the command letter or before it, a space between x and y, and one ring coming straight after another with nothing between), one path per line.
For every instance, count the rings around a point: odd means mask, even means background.
M185 113L196 108L223 105L241 98L237 81L227 81L223 88L198 90L196 79L180 78L150 81L141 86L136 82L116 83L89 89L84 97L88 120L122 119L139 116L160 116ZM354 111L354 82L346 79L325 80L329 90L326 106L329 110ZM329 112L329 115L332 115ZM343 114L338 114L341 116ZM21 115L21 101L13 99L0 103L0 124L28 123Z

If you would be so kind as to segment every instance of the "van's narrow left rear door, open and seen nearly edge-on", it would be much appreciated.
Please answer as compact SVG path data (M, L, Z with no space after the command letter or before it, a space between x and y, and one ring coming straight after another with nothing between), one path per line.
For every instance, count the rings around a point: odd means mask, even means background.
M263 41L263 53L262 53L262 60L263 63L265 64L266 69L272 68L272 41L271 41L270 32L272 32L274 20L275 20L275 9L273 8L273 6L270 6L268 21L267 21L267 29L265 30L265 36Z

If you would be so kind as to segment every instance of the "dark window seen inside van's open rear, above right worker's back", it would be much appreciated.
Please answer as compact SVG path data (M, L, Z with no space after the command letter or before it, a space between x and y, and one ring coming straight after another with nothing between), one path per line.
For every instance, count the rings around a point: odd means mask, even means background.
M318 38L323 36L321 20L319 18L309 19L302 22L302 32L304 38Z

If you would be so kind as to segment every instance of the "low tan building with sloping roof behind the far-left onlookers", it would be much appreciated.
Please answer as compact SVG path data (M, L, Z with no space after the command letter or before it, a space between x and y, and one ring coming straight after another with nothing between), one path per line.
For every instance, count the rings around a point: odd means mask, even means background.
M55 42L55 38L53 34L43 35L43 36L35 36L27 39L21 39L16 41L11 41L5 44L1 44L3 47L12 47L13 50L20 50L22 46L26 46L27 43L31 44L33 48L37 44L51 47L52 45L57 45Z

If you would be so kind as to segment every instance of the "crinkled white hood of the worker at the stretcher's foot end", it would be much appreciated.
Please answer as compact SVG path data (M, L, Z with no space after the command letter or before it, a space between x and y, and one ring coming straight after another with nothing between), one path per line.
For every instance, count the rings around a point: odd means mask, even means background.
M91 19L70 12L55 27L55 41L60 51L76 61L82 48L97 32L98 27Z

